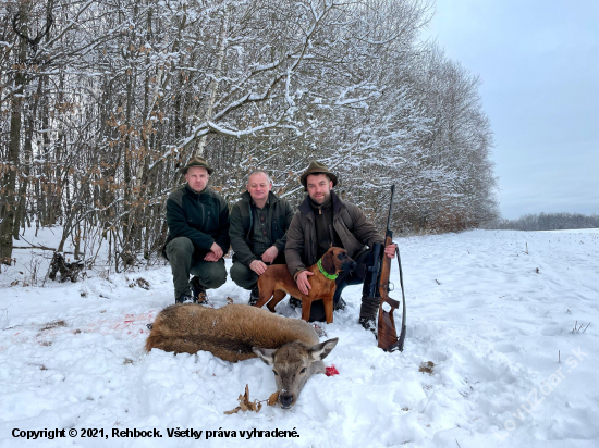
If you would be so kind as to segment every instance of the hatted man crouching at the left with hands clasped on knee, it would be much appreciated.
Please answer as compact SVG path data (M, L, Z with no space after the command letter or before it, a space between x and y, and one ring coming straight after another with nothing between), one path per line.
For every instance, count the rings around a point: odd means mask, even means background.
M227 281L222 257L229 250L229 207L208 188L212 169L205 159L193 158L181 173L187 184L167 200L164 252L173 273L175 302L201 302L206 289Z

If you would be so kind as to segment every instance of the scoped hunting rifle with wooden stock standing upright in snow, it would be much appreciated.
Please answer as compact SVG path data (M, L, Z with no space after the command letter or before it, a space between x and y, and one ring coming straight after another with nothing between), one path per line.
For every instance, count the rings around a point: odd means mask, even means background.
M389 203L389 217L387 219L387 232L384 234L384 247L393 244L393 232L390 228L391 225L391 212L393 210L393 194L395 192L395 185L391 186L391 200ZM402 331L400 337L395 331L395 320L393 319L393 311L400 308L398 300L389 297L389 276L391 274L391 259L382 252L382 266L380 267L379 275L379 293L381 297L379 307L379 322L378 322L378 346L384 351L403 351L403 344L405 340L405 295L403 290L403 273L402 261L400 259L400 249L395 247L395 254L398 256L398 264L400 267L400 285L402 287ZM379 258L380 260L380 258Z

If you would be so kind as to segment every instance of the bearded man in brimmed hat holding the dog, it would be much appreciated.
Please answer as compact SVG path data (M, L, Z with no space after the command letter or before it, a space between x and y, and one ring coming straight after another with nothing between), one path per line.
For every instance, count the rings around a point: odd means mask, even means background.
M337 290L333 308L343 309L345 302L341 293L347 285L365 283L359 311L359 323L365 328L372 328L377 316L380 297L368 297L367 287L371 273L368 267L374 264L372 246L383 244L383 237L376 227L366 221L364 212L351 202L342 201L332 190L337 176L319 162L313 162L302 174L300 182L308 192L302 202L290 228L285 258L289 271L304 294L308 294L308 277L314 275L306 266L316 263L325 252L334 247L345 249L357 263L354 272L344 272L337 278ZM395 257L395 245L389 245L384 253ZM366 282L365 282L366 281ZM377 291L378 294L378 291ZM313 302L310 321L323 321L322 300Z

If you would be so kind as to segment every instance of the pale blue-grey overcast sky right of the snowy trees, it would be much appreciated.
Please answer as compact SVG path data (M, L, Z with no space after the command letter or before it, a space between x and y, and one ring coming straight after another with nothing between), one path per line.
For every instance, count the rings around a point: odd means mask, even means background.
M437 0L427 35L482 79L503 217L599 214L599 0Z

